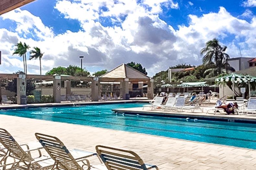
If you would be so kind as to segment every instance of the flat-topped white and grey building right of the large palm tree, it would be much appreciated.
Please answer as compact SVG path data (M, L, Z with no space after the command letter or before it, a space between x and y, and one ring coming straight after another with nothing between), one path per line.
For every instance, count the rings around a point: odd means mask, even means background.
M227 62L236 71L240 71L240 70L245 70L249 68L248 61L250 60L252 60L252 57L235 57L235 58L229 58Z

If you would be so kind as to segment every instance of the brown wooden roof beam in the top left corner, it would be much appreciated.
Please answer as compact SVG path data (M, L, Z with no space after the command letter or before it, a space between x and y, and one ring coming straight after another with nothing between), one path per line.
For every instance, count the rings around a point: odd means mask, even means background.
M26 5L35 0L0 0L0 15Z

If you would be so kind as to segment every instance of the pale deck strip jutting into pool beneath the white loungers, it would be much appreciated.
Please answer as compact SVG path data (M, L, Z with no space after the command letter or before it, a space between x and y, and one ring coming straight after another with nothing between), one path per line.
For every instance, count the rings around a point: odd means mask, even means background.
M206 120L219 120L219 121L229 121L229 122L248 122L248 123L256 123L256 116L250 115L227 115L225 113L218 113L216 115L213 114L213 111L209 112L210 114L206 114L206 111L209 108L214 108L212 106L202 106L203 113L199 109L195 109L194 112L191 110L183 110L183 112L177 111L164 111L163 109L153 109L150 107L134 107L134 108L121 108L121 109L112 109L115 113L124 113L124 114L141 114L141 115L159 115L159 116L170 116L170 117L184 117L184 118L197 118L197 119L206 119Z

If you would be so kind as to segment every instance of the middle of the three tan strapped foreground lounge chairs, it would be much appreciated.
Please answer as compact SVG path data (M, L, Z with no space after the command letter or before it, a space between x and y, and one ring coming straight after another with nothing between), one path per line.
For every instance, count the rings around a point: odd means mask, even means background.
M46 152L55 161L52 169L83 170L85 166L90 169L90 163L86 158L94 155L97 156L96 153L76 149L69 151L57 137L40 133L35 135ZM81 162L83 165L79 165L78 162Z

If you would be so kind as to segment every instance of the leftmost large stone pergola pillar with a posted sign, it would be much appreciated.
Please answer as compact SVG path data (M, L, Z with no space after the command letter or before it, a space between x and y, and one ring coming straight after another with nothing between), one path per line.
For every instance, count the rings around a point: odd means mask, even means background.
M25 74L18 74L18 77L17 77L17 104L18 105L27 104Z

